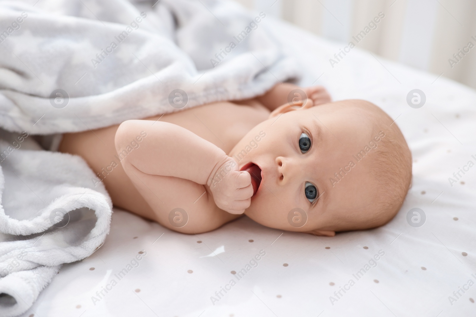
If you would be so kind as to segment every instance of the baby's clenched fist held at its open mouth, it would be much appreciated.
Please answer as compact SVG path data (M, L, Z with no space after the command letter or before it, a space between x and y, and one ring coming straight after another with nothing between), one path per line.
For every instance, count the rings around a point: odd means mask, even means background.
M238 171L238 163L228 157L210 177L207 184L217 207L233 214L245 212L253 196L250 174Z

